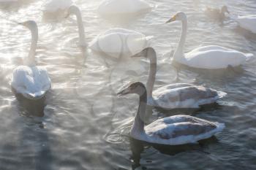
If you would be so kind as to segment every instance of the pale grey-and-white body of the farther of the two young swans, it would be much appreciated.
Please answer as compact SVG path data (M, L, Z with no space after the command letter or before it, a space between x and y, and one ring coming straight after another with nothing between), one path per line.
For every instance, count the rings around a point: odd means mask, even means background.
M165 109L195 108L203 104L213 103L222 97L217 90L195 85L180 88L164 86L154 90L153 96L154 104Z

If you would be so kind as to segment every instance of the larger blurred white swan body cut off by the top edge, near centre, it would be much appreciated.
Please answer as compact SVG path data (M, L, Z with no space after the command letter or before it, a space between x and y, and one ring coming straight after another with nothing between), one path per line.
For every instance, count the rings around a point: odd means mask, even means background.
M98 7L100 15L124 15L144 12L151 9L143 0L105 0Z

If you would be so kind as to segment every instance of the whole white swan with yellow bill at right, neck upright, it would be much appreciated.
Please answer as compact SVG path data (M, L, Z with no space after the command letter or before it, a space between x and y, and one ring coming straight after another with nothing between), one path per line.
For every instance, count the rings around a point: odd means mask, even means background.
M189 53L184 53L184 44L187 36L187 15L178 12L166 23L181 20L182 33L173 61L197 69L226 69L228 66L240 66L253 56L251 53L241 53L218 45L197 47Z

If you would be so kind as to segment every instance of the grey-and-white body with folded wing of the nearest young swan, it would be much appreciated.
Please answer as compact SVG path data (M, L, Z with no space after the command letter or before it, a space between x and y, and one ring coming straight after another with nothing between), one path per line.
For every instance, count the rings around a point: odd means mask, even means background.
M165 117L145 127L148 142L186 144L213 136L225 127L197 117L176 115Z

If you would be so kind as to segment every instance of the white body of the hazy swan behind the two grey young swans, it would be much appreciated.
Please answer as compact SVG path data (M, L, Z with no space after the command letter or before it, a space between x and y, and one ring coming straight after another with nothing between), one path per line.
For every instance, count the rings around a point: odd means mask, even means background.
M149 36L137 31L112 28L99 34L90 44L91 50L105 53L113 58L120 55L134 55L149 46Z

